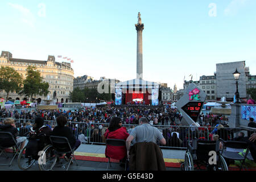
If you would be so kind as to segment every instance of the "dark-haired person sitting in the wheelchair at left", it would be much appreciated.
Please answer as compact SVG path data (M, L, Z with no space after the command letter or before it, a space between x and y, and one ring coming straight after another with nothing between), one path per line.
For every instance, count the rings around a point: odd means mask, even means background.
M30 133L28 134L26 157L32 156L32 158L38 159L38 152L50 144L49 136L51 134L52 130L44 125L44 119L42 117L36 117L35 123L30 127Z

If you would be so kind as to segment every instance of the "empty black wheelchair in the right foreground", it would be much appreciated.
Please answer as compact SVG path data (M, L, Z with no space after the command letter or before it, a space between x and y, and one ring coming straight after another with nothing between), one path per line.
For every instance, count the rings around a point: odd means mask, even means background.
M193 146L188 143L185 160L181 164L182 171L228 171L225 159L220 154L220 141L193 140Z

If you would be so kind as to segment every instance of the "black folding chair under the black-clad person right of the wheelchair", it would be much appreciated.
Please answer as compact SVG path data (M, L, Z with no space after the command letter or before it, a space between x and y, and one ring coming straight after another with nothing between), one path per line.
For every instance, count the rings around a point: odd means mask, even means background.
M74 155L75 148L71 147L66 137L50 136L49 138L58 156L62 156L63 154L72 152L72 158L70 158L68 161L68 167L67 167L67 171L68 171L68 168L71 165L72 159L75 159L75 162L76 162L76 158ZM76 162L76 165L78 166L77 162Z

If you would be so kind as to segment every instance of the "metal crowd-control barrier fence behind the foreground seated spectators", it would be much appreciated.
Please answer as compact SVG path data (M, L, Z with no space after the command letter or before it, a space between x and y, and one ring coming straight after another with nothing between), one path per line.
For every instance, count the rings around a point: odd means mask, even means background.
M6 118L0 118L0 122ZM15 119L15 126L21 127L23 123L30 122L31 125L34 123L34 119ZM53 129L57 123L56 121L45 121L45 125ZM86 123L86 122L68 122L68 127L71 127L73 134L76 139L79 139L83 143L87 144L105 144L104 133L109 127L109 123ZM127 132L130 134L131 130L138 125L122 124L126 127ZM203 140L213 140L214 135L218 135L219 138L224 140L235 140L242 133L245 136L250 136L255 133L254 129L244 128L230 128L230 127L195 127L195 126L172 126L172 125L153 125L158 128L160 133L163 134L166 139L166 145L161 148L165 149L181 149L187 148L187 144L192 143L193 138Z

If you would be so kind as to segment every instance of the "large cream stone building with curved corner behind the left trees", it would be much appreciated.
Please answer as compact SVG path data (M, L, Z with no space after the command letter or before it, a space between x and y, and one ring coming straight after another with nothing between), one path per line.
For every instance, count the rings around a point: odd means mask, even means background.
M26 79L27 67L35 66L43 77L43 81L49 84L49 98L52 100L53 92L56 91L57 102L70 102L69 92L73 91L74 72L70 63L56 62L55 56L48 56L47 60L28 60L13 58L13 55L8 51L2 51L0 57L0 67L12 67L19 72L23 79ZM0 97L6 97L4 90L0 90ZM9 98L22 100L25 96L20 96L17 93L10 93ZM36 99L45 100L47 97L35 96Z

